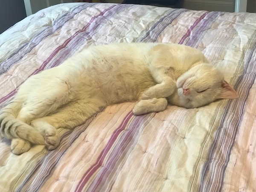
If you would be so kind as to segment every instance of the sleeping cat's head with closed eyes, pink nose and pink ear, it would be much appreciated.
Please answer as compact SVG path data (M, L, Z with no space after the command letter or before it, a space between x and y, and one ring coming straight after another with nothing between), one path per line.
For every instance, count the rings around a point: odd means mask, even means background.
M236 91L224 80L223 74L211 64L192 67L177 79L177 93L169 102L184 108L197 108L216 99L236 99Z

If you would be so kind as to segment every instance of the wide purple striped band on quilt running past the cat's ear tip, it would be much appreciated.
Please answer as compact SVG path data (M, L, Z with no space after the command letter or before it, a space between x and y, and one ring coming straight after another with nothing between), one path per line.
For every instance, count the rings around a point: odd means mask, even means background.
M225 113L223 114L220 125L215 133L214 141L209 148L206 157L207 161L202 168L199 191L207 192L211 191L211 189L214 189L216 192L222 191L224 175L230 160L230 154L236 141L236 135L240 128L241 119L245 113L250 89L256 79L255 38L256 33L253 34L253 38L250 39L254 44L252 48L247 49L248 57L244 62L244 72L239 76L236 86L234 87L241 97L236 100L230 100L224 109ZM240 106L240 108L237 109L237 106ZM235 108L236 110L234 110ZM232 111L232 113L228 113L229 111ZM209 180L207 180L207 178L209 178Z

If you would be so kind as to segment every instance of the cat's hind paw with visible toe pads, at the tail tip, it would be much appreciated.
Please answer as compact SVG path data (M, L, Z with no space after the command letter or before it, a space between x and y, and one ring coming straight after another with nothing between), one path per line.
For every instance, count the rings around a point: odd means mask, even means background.
M52 130L47 130L45 134L45 145L48 148L48 150L54 150L58 147L60 143L60 135L58 130L55 128Z

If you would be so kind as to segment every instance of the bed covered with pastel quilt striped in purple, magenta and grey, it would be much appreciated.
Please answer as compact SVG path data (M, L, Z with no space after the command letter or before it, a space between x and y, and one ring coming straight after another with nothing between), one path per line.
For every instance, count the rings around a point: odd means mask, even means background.
M112 42L197 48L239 99L141 116L133 102L112 105L59 130L53 151L35 145L15 155L0 138L0 191L256 192L255 13L111 3L43 9L0 35L0 109L29 76Z

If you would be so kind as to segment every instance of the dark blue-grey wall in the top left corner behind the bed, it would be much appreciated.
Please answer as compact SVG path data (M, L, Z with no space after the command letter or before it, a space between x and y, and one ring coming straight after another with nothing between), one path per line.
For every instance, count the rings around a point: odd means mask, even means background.
M0 1L0 33L26 17L23 0Z

